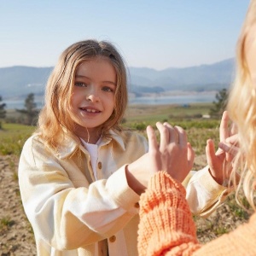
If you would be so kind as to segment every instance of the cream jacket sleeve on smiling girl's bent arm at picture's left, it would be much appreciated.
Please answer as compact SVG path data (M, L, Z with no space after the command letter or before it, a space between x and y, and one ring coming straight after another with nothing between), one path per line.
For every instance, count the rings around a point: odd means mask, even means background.
M59 250L112 236L138 213L139 196L126 182L125 166L108 180L75 188L55 156L33 139L20 155L19 185L35 236Z

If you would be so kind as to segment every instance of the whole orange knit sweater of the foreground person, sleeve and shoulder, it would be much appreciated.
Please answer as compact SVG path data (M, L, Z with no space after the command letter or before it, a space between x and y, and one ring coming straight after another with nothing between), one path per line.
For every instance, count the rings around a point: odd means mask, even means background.
M156 255L256 255L256 213L248 224L201 245L183 185L166 172L151 178L140 200L138 252Z

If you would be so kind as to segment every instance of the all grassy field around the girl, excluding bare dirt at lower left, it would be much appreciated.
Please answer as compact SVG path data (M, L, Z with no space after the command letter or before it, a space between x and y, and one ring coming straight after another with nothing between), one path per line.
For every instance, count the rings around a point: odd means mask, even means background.
M144 136L146 136L145 129L147 125L155 127L157 121L167 121L171 125L180 125L186 130L189 142L195 149L195 154L201 156L205 155L208 138L214 140L216 148L218 145L220 119L202 118L202 115L209 113L211 107L211 104L191 104L187 108L171 105L131 106L125 113L123 125ZM15 117L15 113L12 113L12 117ZM23 144L34 130L35 127L33 126L3 122L3 130L0 130L0 155L15 156L18 159ZM201 167L194 166L193 169L199 170ZM13 179L16 183L17 176L15 175ZM3 222L5 219L7 217L0 219L0 221ZM241 224L247 219L247 212L238 207L234 195L230 195L230 199L218 208L211 218L195 217L198 239L203 243L210 241L230 230L234 230L237 224ZM3 231L3 228L0 225L0 234L1 230ZM11 227L8 227L8 230L11 230Z

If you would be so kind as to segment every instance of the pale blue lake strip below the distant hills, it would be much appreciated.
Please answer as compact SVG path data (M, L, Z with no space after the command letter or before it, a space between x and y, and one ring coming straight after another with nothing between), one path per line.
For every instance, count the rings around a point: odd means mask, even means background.
M130 97L130 105L166 105L166 104L190 104L190 103L204 103L213 102L215 100L216 92L191 92L183 95L168 95L168 96L141 96L141 97ZM11 100L3 99L6 104L6 109L21 109L24 108L25 99L23 100ZM38 108L42 108L44 105L44 99L42 97L35 97L35 102Z

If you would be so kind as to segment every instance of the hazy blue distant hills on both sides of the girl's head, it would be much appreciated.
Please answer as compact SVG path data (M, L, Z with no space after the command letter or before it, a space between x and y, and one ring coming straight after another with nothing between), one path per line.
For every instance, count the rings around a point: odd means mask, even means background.
M0 68L0 96L24 98L29 93L44 95L44 86L53 67ZM234 78L235 61L228 59L212 65L166 68L129 67L129 90L145 92L170 90L220 90L228 88Z

